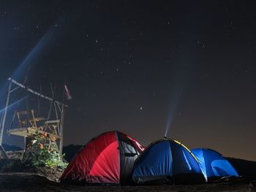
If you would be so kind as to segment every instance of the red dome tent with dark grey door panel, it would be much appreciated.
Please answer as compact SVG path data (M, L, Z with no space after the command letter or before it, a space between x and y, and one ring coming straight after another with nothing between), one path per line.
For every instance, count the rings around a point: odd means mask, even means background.
M144 147L119 131L91 139L72 158L61 176L67 183L125 183Z

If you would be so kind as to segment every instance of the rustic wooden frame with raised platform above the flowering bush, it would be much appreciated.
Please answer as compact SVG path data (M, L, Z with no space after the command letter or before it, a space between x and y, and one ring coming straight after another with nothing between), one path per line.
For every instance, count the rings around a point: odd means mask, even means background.
M9 78L8 80L10 80L10 84L7 91L7 99L4 107L4 112L0 122L0 149L3 149L2 138L4 133L5 120L7 116L8 104L10 101L10 94L16 91L18 88L23 88L25 91L28 91L29 93L33 93L39 96L39 98L50 101L50 108L54 106L56 119L49 120L50 113L48 114L47 119L35 117L34 110L15 112L12 118L12 123L15 120L15 118L17 118L18 127L12 128L11 123L10 129L7 130L7 133L24 138L34 137L37 134L48 134L50 137L55 137L56 139L59 139L59 153L62 153L64 133L64 107L67 107L67 105L59 101L56 101L56 99L50 98L49 96L42 95L42 93L38 93L37 91L34 91L31 88L29 88L27 85L23 85L20 82L12 80L11 78ZM14 88L12 88L12 84L15 85ZM0 155L2 156L2 158L5 158L5 151L1 150Z

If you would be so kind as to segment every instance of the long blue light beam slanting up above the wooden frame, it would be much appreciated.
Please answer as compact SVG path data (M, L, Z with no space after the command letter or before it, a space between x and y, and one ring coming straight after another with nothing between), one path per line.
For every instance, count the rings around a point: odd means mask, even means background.
M23 61L20 62L19 66L15 69L15 71L10 75L12 79L17 79L20 77L20 74L23 72L26 72L26 70L29 68L29 64L31 64L31 61L35 58L37 54L39 54L39 51L42 50L42 47L44 47L50 37L53 34L53 26L51 26L48 31L42 36L41 39L39 39L39 42L37 42L37 45L34 46L34 48L29 52L28 55L23 59ZM7 89L8 82L4 83L2 88L0 89L0 95L3 95L3 91Z

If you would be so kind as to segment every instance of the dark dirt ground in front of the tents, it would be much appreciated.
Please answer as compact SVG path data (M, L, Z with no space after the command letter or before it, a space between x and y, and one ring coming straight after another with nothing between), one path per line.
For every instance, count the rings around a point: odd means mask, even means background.
M95 185L61 185L45 177L31 173L0 173L0 191L255 191L252 183L212 183L204 185L151 185L151 186L95 186Z

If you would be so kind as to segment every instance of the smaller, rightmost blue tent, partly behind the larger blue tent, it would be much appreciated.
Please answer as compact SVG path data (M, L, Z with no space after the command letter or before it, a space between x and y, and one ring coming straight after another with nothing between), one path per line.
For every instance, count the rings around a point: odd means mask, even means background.
M192 153L199 161L206 179L209 177L238 176L233 166L215 150L197 148Z

